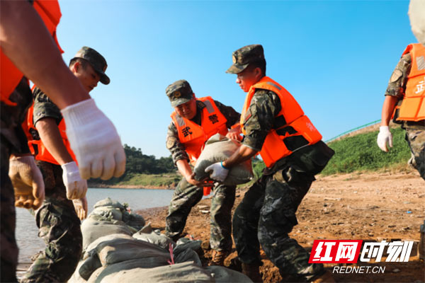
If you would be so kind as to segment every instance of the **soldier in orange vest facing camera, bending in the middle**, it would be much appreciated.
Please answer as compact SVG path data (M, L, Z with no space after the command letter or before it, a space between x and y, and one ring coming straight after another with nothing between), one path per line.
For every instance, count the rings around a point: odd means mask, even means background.
M195 98L185 80L171 83L166 88L174 112L166 137L166 147L183 178L176 187L166 216L166 236L174 241L181 236L188 214L203 196L204 182L197 181L189 162L194 163L205 141L220 133L231 139L240 138L240 127L228 130L237 123L240 114L233 108L212 100L210 96ZM211 200L210 246L212 265L223 265L232 248L231 212L236 186L215 183Z

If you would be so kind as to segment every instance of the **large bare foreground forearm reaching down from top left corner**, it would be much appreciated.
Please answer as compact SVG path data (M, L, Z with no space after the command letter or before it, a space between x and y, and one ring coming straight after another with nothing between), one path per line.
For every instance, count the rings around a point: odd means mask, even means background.
M90 98L28 1L1 1L0 13L1 49L28 79L49 93L60 109Z

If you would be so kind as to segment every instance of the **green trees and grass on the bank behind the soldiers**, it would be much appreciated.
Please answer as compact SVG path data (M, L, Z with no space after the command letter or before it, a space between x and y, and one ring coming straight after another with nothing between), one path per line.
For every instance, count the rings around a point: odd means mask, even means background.
M404 130L400 127L391 129L393 147L390 152L383 152L376 144L378 132L366 132L353 137L346 137L338 141L331 141L328 145L334 149L335 155L331 158L323 175L335 173L351 173L353 171L375 171L381 168L397 168L406 164L410 158L410 149L404 140ZM176 172L171 156L155 158L142 154L140 149L124 145L127 156L125 173L120 178L111 180L90 180L89 185L135 185L135 186L175 186L181 180ZM266 167L259 158L252 161L255 180L261 177ZM248 184L254 183L254 180Z

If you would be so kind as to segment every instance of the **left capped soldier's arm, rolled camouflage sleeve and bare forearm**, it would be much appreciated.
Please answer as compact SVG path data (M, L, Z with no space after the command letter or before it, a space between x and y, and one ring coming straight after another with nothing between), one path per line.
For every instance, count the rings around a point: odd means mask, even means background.
M35 88L34 96L33 120L42 143L60 165L72 162L57 127L62 120L59 108L39 88Z

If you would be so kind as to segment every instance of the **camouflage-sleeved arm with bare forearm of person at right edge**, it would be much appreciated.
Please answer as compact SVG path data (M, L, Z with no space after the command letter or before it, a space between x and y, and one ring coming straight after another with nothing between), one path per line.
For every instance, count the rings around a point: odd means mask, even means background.
M389 125L397 102L404 97L407 76L409 75L411 67L412 57L408 53L400 59L395 70L392 72L387 91L385 91L385 100L382 105L381 126Z

